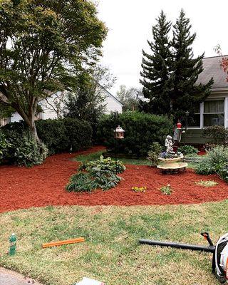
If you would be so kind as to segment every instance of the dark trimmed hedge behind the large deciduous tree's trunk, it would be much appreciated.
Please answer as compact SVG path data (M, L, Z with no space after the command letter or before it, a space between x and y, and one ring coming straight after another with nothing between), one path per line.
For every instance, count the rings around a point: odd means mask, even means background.
M90 123L75 118L37 120L38 137L48 147L49 154L77 151L92 145L93 130ZM1 128L7 136L21 135L27 130L23 121L9 123Z

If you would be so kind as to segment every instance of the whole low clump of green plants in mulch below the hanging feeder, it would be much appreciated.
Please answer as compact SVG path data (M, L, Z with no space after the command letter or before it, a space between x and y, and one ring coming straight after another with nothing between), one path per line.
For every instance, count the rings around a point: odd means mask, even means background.
M92 192L95 189L108 190L115 187L121 177L115 173L115 160L110 157L100 160L90 161L79 167L79 172L72 175L66 190L68 192ZM125 166L118 161L118 173L123 172Z

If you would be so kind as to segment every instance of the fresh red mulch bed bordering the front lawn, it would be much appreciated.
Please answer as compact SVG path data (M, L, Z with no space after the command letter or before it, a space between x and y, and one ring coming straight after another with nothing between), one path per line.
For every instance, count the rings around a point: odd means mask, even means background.
M217 175L196 175L193 170L180 175L162 175L156 168L145 165L127 165L127 170L120 175L124 180L111 190L96 190L92 194L66 192L65 185L79 165L71 158L102 149L93 147L74 154L53 155L43 165L31 168L1 166L0 212L46 205L191 204L228 198L228 185ZM214 180L219 185L195 185L199 180ZM173 189L172 195L163 195L158 190L167 184ZM147 192L133 192L133 186L146 186Z

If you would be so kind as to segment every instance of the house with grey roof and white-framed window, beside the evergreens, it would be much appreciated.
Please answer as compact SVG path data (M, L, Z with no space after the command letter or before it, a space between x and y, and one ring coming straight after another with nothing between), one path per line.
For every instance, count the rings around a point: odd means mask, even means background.
M222 125L228 128L228 82L220 63L224 56L203 58L204 71L199 74L197 83L206 84L214 78L212 92L199 106L194 116L194 122L189 120L186 142L202 144L209 141L202 137L202 129L212 125Z

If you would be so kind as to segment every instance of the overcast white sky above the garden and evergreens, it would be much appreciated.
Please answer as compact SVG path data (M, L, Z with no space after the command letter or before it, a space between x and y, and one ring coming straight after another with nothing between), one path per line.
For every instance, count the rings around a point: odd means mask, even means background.
M118 78L111 92L119 86L140 87L142 48L152 39L152 25L163 9L167 19L175 22L184 9L197 33L193 51L195 56L215 56L214 46L219 43L222 53L228 54L228 1L206 0L99 0L99 18L108 27L103 43L102 63Z

